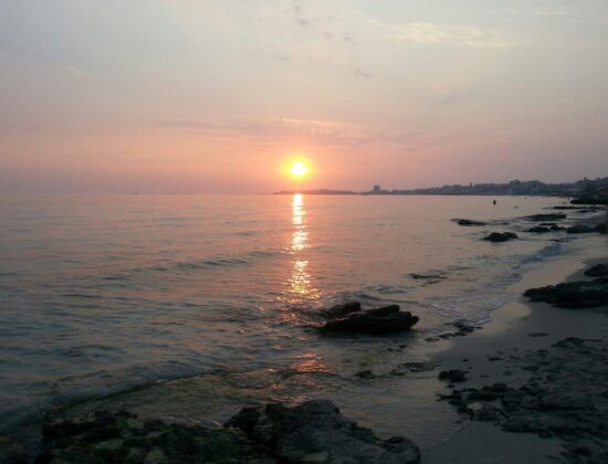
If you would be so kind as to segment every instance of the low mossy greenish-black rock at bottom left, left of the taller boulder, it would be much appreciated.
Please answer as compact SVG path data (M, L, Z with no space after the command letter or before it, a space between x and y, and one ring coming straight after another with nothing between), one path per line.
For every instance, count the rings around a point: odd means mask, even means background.
M145 421L124 411L46 422L45 431L36 463L276 462L238 430Z

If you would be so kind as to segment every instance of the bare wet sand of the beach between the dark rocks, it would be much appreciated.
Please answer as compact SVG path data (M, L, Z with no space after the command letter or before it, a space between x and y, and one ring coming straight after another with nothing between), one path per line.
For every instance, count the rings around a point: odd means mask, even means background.
M606 240L601 235L585 238L576 246L525 273L513 285L522 295L520 298L494 310L492 319L480 330L454 339L438 355L442 369L467 372L468 380L455 388L481 389L497 382L520 388L532 378L526 355L551 350L554 344L567 337L606 340L606 314L532 303L523 296L527 288L588 280L584 271L608 260ZM600 255L605 257L598 257ZM442 392L448 393L449 388L443 387ZM444 405L450 408L447 402ZM564 444L555 436L506 432L489 422L463 416L462 425L443 443L422 451L421 462L559 462L564 461Z

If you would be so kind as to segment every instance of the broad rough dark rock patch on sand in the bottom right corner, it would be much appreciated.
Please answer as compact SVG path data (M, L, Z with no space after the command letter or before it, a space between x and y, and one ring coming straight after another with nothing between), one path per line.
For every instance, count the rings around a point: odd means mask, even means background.
M510 432L557 436L568 462L608 462L608 342L566 338L524 362L532 377L523 386L493 383L441 396L473 420Z

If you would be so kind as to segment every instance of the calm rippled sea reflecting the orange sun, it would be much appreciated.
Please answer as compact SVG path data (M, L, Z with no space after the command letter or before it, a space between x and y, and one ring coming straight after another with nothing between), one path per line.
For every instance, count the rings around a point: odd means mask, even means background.
M486 320L514 298L506 287L523 268L567 244L480 239L523 229L530 224L500 222L560 202L3 197L0 428L64 404L221 420L252 401L325 396L399 429L387 416L391 401L416 393L390 381L370 387L355 373L423 359L432 350L426 340L445 324ZM453 218L499 223L463 228ZM412 334L382 338L311 328L318 308L352 299L397 303L421 320Z

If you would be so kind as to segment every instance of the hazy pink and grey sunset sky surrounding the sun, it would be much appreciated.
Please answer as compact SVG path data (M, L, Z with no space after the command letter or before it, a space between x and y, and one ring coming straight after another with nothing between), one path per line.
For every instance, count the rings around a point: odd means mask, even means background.
M0 2L3 193L604 176L606 0Z

